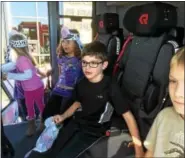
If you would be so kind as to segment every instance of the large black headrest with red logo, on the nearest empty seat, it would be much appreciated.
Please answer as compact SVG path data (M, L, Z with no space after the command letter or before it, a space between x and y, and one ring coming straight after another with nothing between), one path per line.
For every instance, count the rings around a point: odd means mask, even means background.
M176 7L161 2L131 7L125 14L123 25L135 35L161 34L177 25Z

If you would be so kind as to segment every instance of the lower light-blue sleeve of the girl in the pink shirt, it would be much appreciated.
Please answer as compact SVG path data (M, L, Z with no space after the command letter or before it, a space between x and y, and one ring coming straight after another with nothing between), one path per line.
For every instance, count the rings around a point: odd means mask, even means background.
M7 73L8 79L18 80L18 81L25 81L31 79L33 76L32 70L28 69L25 70L24 73Z

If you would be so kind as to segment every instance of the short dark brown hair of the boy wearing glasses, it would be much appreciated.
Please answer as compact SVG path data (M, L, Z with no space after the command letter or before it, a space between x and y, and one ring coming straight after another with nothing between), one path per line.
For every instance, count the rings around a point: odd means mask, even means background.
M95 56L96 58L101 59L103 62L108 60L106 46L98 41L94 41L85 45L82 50L82 58L87 55Z

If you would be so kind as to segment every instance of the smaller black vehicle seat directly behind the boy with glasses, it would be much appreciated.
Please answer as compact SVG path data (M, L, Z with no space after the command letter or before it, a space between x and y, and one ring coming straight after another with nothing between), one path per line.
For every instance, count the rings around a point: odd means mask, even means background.
M94 19L92 27L97 30L94 40L100 41L107 48L109 65L104 73L111 76L123 42L123 30L119 28L119 16L116 13L99 14Z

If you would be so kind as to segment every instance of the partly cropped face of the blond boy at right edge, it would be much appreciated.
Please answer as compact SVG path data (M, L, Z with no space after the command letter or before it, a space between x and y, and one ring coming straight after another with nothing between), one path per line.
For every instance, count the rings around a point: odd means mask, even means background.
M184 66L172 65L169 75L169 93L177 113L184 117Z

